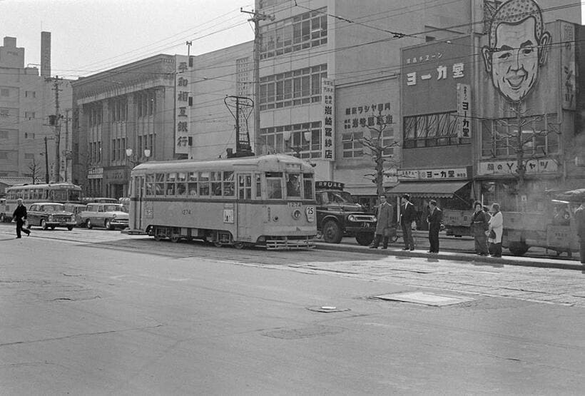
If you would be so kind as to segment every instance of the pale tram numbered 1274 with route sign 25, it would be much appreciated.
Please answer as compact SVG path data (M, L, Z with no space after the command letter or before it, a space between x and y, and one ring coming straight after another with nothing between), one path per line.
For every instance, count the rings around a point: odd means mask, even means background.
M128 232L235 248L313 248L314 186L312 166L283 154L148 161L131 173Z

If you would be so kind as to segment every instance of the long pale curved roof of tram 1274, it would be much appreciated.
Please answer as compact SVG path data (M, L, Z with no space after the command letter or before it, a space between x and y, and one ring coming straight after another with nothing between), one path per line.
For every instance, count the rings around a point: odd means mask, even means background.
M301 171L310 171L310 166L307 161L296 158L293 156L287 156L285 154L268 154L265 156L258 157L243 157L243 158L223 158L217 160L208 161L197 161L197 160L174 160L174 161L148 161L141 163L140 165L133 168L133 171L153 171L153 170L185 170L193 168L209 168L209 169L225 169L232 168L235 166L274 166L278 163L292 163L298 164L301 167Z

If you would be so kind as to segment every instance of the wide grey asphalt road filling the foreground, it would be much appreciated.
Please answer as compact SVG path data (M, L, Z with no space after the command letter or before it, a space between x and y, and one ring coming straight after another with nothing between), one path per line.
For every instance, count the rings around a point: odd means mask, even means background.
M579 271L14 225L0 257L1 394L585 391ZM414 292L459 303L377 298Z

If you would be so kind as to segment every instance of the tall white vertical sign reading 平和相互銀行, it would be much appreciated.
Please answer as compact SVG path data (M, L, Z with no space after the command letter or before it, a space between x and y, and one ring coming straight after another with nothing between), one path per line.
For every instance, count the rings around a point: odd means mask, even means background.
M188 57L177 55L175 61L175 153L189 153L189 66Z

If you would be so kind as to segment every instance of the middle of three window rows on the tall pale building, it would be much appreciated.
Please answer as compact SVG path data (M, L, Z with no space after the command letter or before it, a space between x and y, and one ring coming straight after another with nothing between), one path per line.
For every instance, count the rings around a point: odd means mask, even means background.
M260 78L260 110L320 102L321 78L327 78L327 64Z

